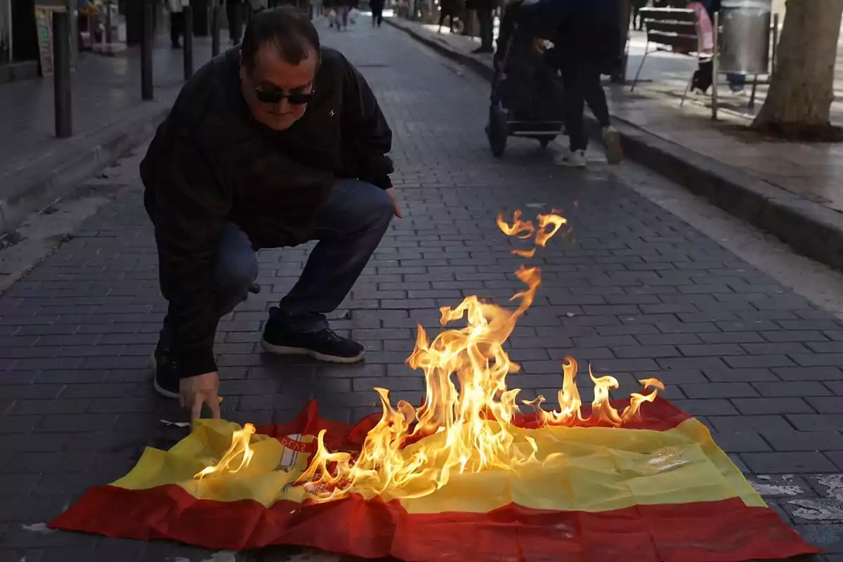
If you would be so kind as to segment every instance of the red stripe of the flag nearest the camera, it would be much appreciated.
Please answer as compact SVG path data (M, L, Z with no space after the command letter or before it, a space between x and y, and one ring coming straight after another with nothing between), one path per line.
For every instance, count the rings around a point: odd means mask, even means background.
M295 544L407 562L738 562L819 552L767 508L735 498L614 511L410 514L400 503L352 496L322 504L196 500L175 485L102 486L50 527L109 537L175 539L209 549Z

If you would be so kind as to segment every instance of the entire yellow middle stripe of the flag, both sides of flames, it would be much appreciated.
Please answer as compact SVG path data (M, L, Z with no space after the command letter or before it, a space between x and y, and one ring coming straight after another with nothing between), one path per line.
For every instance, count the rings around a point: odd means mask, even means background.
M239 472L194 478L219 461L239 429L231 422L201 420L169 452L148 448L132 472L113 485L145 490L177 484L196 498L250 499L267 507L277 500L305 500L302 487L288 484L307 467L309 454L291 454L291 449L269 436L252 436L255 455ZM514 446L528 453L527 437L534 440L536 462L511 472L453 474L448 484L431 495L401 500L405 510L411 514L482 513L516 503L534 509L596 512L734 497L747 506L765 506L713 442L706 426L694 419L666 431L545 426L513 432ZM439 438L443 434L426 439ZM295 441L313 439L296 436ZM408 452L413 447L407 447Z

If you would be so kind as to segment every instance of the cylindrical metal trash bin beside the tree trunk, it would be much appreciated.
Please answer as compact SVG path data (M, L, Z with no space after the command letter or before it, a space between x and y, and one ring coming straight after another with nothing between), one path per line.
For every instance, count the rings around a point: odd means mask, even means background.
M772 0L722 0L719 72L770 72Z

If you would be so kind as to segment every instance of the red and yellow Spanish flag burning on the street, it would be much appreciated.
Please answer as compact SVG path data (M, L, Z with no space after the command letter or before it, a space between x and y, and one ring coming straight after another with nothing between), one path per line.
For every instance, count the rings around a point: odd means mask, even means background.
M352 494L314 502L318 490L294 484L319 431L331 450L359 451L378 419L331 422L311 403L290 424L258 427L242 469L198 479L241 429L201 420L169 451L148 448L125 477L89 490L51 527L210 549L295 544L408 562L732 562L819 552L765 506L705 426L661 398L622 429L521 416L513 431L535 443L541 463L452 474L413 499Z

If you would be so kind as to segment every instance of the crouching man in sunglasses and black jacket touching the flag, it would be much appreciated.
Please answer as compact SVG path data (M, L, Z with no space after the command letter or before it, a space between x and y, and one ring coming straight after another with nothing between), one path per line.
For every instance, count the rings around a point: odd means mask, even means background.
M351 290L400 217L392 133L361 74L322 48L307 15L256 13L242 45L185 84L141 163L169 302L154 388L194 418L219 416L217 322L258 276L255 251L318 240L261 344L278 354L360 361L325 313Z

